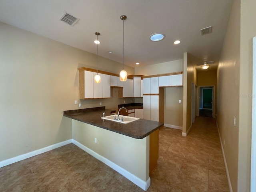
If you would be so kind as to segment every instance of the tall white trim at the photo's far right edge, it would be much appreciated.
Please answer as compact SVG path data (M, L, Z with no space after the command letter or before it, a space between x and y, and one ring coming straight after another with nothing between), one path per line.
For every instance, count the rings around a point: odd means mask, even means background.
M252 150L251 191L256 191L256 37L252 39Z

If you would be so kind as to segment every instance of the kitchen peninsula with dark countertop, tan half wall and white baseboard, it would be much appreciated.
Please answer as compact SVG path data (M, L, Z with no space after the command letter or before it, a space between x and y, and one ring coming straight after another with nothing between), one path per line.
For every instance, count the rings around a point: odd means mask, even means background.
M158 156L158 131L164 123L139 119L122 124L101 119L103 112L108 116L113 110L98 107L64 111L64 116L72 118L74 144L147 190L150 164L157 160L150 160L151 146L157 145Z

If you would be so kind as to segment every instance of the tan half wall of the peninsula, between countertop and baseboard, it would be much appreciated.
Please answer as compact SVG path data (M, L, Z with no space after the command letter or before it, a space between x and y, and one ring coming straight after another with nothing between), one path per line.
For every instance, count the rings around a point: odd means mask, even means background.
M149 136L134 139L72 120L73 139L143 181L149 178ZM94 143L97 138L97 143Z

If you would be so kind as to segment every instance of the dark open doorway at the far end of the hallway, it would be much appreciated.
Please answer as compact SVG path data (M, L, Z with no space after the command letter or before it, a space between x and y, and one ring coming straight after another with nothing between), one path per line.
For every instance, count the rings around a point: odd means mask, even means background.
M213 117L214 86L200 86L199 88L199 116Z

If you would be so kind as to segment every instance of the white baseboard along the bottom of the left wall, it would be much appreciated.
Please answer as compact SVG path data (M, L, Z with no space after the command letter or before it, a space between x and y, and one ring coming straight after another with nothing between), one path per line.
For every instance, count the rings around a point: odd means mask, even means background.
M36 156L36 155L42 154L44 152L48 152L50 150L56 149L58 147L61 147L61 146L64 146L64 145L67 145L67 144L70 144L70 143L72 143L72 139L66 140L66 141L63 141L63 142L59 142L59 143L56 143L56 144L53 144L53 145L50 145L50 146L32 151L32 152L28 152L26 154L22 154L22 155L19 155L19 156L10 158L10 159L3 160L3 161L0 162L0 168L4 167L4 166L7 166L7 165L10 165L10 164L13 164L13 163L16 163L18 161L33 157L33 156Z

